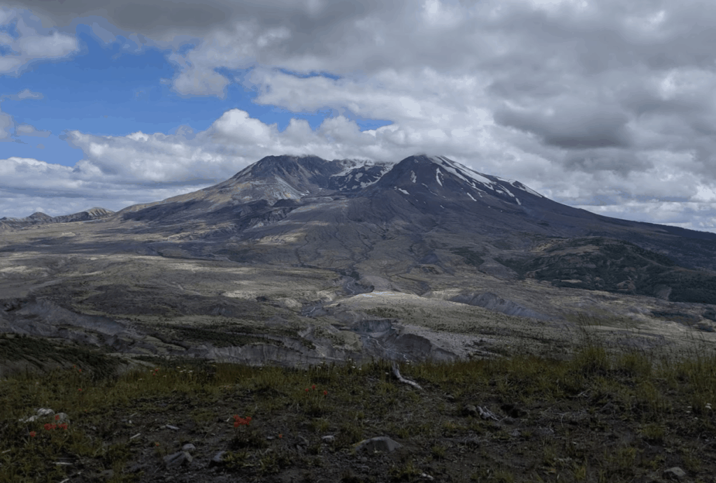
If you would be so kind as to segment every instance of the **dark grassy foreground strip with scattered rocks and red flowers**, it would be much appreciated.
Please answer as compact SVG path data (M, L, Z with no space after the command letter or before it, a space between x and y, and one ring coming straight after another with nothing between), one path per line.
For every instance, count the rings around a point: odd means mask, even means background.
M0 364L31 341L0 336ZM97 355L76 355L0 382L0 483L164 481L163 457L187 442L195 461L171 481L658 482L672 467L682 481L716 481L714 353L610 355L585 339L569 360L400 364L422 389L388 361L298 370L147 358L151 369L107 376ZM18 421L40 408L56 416ZM374 436L403 448L355 452ZM205 468L222 450L224 463Z

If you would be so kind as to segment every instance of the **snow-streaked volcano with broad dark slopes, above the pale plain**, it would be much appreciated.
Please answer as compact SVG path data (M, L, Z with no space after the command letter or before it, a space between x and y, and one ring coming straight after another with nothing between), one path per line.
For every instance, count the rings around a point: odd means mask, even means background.
M430 290L416 273L472 272L716 303L716 234L571 208L444 156L268 156L203 190L64 220L96 218L127 235L159 235L142 244L150 254L402 274L401 290L413 293ZM36 213L0 223L62 220Z

